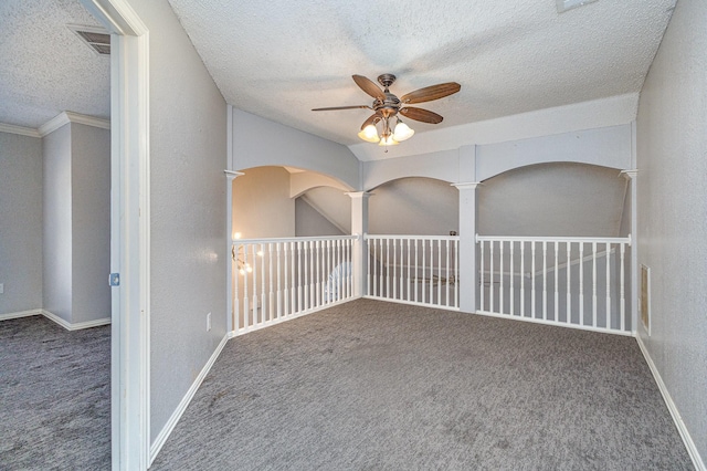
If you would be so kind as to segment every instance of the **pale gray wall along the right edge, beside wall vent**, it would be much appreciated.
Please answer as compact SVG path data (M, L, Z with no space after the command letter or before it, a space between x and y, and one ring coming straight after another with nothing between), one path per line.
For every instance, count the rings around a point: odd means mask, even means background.
M680 0L641 92L639 263L651 268L647 347L707 459L707 3Z

